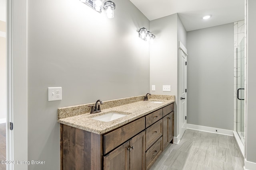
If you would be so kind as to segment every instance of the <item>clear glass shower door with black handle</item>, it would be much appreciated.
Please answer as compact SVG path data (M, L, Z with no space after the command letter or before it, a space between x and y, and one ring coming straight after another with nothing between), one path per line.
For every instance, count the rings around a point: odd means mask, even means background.
M244 39L237 48L237 102L236 131L244 144Z

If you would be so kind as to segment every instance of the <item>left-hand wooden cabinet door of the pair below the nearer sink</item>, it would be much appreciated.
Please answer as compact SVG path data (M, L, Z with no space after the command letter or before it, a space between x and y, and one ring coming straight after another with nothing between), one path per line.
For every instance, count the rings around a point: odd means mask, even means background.
M129 145L130 142L127 141L104 156L104 170L129 170Z

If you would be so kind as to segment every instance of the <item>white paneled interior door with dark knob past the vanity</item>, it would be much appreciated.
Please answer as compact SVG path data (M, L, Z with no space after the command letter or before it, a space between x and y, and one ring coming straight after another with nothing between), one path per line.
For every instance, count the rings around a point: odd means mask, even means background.
M187 49L180 43L180 139L187 129Z

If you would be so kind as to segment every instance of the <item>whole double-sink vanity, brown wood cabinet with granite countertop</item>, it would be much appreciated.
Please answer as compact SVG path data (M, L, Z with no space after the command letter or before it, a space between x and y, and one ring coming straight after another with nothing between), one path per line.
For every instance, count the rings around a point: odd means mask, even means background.
M101 107L103 107L102 105ZM150 99L103 109L112 121L83 114L59 119L61 169L148 170L174 137L174 100Z

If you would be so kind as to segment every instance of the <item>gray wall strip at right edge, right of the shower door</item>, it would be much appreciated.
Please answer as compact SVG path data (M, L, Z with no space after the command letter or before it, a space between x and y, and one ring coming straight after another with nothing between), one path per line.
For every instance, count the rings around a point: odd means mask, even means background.
M256 163L256 1L248 0L247 20L247 125L246 125L246 159Z

